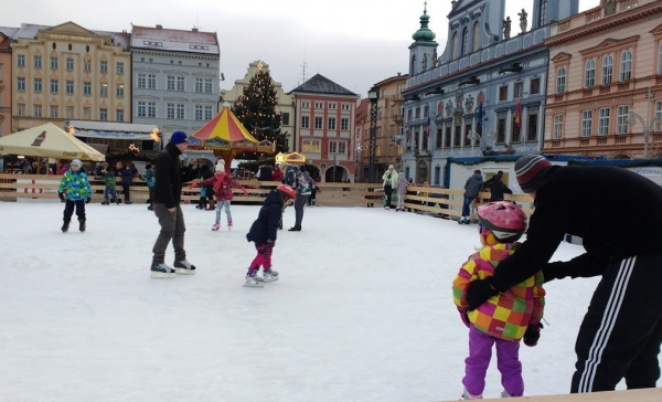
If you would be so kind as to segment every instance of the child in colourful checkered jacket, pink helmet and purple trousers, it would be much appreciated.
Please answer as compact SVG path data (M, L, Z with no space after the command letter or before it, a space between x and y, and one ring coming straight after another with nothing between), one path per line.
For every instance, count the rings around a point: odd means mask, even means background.
M508 292L493 296L476 310L468 311L467 287L476 279L492 276L494 268L515 253L516 241L526 229L526 215L514 203L499 201L478 208L482 248L469 256L452 282L452 298L469 327L469 357L465 360L463 399L482 399L485 373L496 345L496 367L501 372L502 398L522 396L524 381L520 362L520 339L535 346L543 328L545 290L543 274L536 273Z

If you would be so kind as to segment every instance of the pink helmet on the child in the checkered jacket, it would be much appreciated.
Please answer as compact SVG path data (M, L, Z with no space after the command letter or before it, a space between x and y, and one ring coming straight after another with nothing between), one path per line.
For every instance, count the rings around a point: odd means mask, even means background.
M490 202L478 208L480 224L502 243L517 241L526 231L526 214L509 201Z

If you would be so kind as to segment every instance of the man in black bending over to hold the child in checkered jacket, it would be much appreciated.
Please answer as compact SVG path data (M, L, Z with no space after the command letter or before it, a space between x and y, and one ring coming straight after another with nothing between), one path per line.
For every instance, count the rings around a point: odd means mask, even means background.
M534 200L526 241L473 282L470 308L543 269L545 281L601 275L584 317L570 392L654 388L662 342L662 189L616 167L558 167L540 155L515 162L522 191ZM583 237L585 254L548 263L565 234ZM540 336L530 327L530 337ZM526 336L525 336L526 337Z

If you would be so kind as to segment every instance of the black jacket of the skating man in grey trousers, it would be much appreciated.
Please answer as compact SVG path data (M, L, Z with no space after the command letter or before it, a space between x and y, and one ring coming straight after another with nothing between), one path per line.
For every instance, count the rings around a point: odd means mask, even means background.
M179 156L182 152L172 144L157 155L154 162L154 198L153 202L163 203L166 208L180 204L182 198L182 173Z

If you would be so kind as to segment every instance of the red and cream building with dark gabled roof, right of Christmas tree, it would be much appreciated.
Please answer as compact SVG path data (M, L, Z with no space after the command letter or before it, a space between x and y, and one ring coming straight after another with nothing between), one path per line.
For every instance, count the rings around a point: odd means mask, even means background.
M322 182L353 181L356 100L359 95L316 74L292 89L292 150L320 169Z

